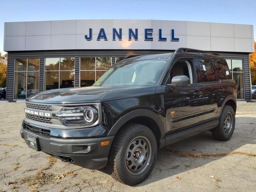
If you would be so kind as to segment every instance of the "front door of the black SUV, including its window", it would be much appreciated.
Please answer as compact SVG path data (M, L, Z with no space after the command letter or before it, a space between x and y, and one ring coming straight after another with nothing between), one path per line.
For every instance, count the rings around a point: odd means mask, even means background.
M164 87L167 134L196 126L203 121L204 87L196 83L194 68L194 61L184 58L174 63L172 67L169 81L174 76L186 75L190 78L190 85L176 88Z

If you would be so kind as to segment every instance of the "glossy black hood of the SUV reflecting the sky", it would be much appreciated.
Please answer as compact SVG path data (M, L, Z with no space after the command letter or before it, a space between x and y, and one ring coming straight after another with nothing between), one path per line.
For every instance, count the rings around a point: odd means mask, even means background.
M40 92L26 99L50 104L93 103L154 94L156 86L90 86Z

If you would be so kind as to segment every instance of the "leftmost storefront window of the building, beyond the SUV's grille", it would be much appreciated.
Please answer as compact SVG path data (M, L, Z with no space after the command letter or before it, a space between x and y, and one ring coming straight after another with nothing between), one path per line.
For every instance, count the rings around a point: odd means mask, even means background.
M14 99L26 99L38 92L39 58L15 59Z

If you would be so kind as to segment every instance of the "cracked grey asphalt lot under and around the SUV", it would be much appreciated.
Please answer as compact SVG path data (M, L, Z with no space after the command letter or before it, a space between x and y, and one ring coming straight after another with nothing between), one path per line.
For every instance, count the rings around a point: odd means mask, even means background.
M148 179L130 187L104 169L88 170L29 148L19 133L25 103L0 103L0 192L254 192L256 114L248 112L251 103L243 105L229 141L216 141L206 132L174 143L158 152Z

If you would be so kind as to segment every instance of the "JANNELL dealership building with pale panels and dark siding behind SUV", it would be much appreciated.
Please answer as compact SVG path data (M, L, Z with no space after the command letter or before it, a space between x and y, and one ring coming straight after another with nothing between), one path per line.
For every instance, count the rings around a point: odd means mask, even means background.
M251 99L253 26L170 20L60 20L4 23L9 101L43 90L92 85L129 55L194 48L226 58L238 99ZM150 74L149 74L150 75Z

